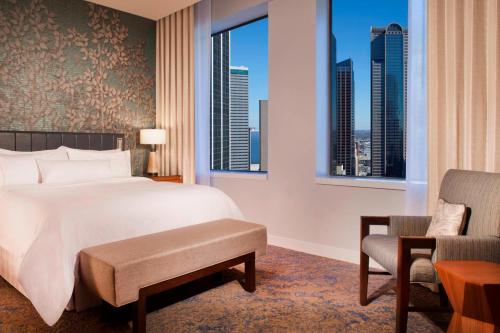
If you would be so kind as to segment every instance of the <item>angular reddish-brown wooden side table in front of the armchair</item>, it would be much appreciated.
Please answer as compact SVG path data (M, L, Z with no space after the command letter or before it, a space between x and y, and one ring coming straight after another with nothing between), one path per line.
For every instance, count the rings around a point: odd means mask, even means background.
M436 270L453 306L450 332L500 332L500 265L439 261Z

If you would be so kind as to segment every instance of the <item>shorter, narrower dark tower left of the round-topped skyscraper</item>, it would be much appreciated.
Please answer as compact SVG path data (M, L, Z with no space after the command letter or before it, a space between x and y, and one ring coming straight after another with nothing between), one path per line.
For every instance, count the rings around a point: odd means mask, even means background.
M337 63L336 174L356 175L354 149L354 69L351 59Z

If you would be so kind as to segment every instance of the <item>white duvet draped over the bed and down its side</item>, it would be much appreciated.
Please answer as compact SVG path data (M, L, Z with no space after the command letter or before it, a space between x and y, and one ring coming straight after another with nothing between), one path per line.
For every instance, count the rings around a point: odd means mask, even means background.
M242 218L207 186L122 178L0 189L0 246L21 258L17 277L49 325L68 304L80 250L220 218Z

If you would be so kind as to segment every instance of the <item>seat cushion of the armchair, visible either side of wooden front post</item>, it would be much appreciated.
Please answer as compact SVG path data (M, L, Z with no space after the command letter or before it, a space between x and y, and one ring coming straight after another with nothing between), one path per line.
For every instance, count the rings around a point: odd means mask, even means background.
M398 272L398 237L369 235L363 239L362 249L393 276ZM430 250L412 250L410 282L436 282Z

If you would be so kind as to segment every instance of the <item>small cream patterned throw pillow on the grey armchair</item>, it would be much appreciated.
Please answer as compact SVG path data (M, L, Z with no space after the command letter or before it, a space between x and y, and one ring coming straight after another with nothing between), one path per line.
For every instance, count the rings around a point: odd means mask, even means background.
M427 237L458 236L465 224L465 205L438 200L436 211L425 234Z

